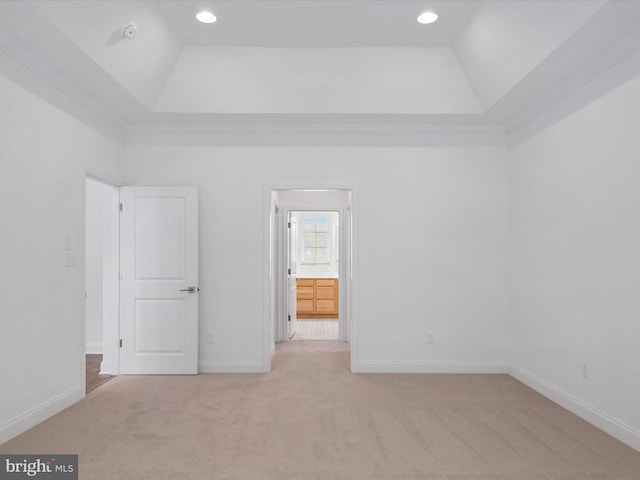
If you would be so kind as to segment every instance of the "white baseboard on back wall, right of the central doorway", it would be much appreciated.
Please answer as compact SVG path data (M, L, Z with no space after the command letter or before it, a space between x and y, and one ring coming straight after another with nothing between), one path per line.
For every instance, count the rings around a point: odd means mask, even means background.
M354 373L507 373L507 362L356 362Z

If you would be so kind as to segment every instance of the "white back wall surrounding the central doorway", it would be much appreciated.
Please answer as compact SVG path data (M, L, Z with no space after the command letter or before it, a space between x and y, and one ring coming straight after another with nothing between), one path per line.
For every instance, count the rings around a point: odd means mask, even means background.
M262 367L265 186L355 185L360 370L506 371L506 153L139 144L125 176L199 188L201 369Z

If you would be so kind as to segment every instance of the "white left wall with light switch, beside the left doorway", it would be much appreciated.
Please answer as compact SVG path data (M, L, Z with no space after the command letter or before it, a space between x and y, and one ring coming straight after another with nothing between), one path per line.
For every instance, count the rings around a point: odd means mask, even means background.
M60 98L0 54L0 443L84 395L85 175L122 173L117 143L24 85Z

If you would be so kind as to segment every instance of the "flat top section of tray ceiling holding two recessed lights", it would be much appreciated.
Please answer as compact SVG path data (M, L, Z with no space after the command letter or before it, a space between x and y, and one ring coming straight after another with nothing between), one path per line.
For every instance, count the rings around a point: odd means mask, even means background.
M466 27L477 1L167 1L160 8L186 45L325 48L446 47ZM203 7L219 21L194 22ZM424 28L416 17L437 10Z

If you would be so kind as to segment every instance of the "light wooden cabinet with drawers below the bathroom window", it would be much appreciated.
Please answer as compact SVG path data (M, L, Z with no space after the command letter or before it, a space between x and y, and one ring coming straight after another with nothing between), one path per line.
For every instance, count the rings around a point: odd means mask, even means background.
M298 318L338 318L337 278L298 278L296 292Z

